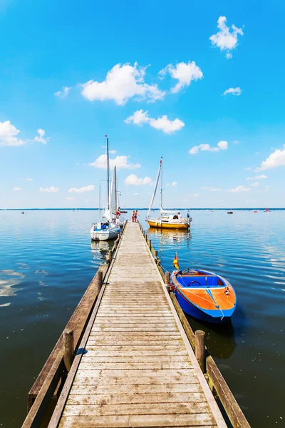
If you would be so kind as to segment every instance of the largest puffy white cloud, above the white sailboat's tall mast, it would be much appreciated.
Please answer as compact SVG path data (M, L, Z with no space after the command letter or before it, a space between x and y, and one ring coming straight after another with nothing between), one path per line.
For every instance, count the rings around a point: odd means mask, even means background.
M89 101L113 100L119 106L134 96L148 101L161 100L165 92L160 91L157 85L145 83L146 68L138 66L138 63L134 66L118 63L108 71L105 81L90 80L83 83L81 93Z

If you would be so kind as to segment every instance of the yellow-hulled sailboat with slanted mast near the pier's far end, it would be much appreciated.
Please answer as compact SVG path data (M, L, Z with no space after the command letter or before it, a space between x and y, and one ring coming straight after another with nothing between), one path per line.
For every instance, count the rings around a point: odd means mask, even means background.
M155 193L157 190L157 185L159 179L161 177L161 185L160 185L160 215L158 218L150 218L150 211L152 209L152 204L155 199ZM180 215L180 211L177 210L164 210L162 208L162 158L160 159L160 166L157 172L157 178L155 181L155 190L153 191L152 199L150 201L150 208L147 213L147 223L150 225L150 228L159 228L159 229L182 229L188 230L190 229L190 223L192 218L187 217L183 218Z

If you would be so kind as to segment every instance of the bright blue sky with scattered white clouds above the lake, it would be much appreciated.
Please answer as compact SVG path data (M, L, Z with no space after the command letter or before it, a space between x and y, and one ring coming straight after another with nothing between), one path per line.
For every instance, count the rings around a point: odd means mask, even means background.
M0 0L0 208L97 207L105 134L123 206L284 207L284 14Z

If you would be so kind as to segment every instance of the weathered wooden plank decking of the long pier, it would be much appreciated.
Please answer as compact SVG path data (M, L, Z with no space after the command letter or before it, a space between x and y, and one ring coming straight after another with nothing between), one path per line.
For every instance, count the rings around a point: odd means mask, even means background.
M137 223L101 295L50 427L226 427Z

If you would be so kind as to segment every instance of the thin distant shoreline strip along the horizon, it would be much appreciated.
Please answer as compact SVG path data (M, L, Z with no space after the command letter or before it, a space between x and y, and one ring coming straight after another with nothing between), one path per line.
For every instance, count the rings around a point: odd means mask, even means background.
M271 208L271 207L263 207L263 208L167 208L167 210L181 210L181 211L262 211L269 208L271 211L284 211L285 208ZM126 211L147 211L148 208L124 208ZM99 208L0 208L0 211L98 211ZM102 210L102 208L101 208ZM152 211L158 211L160 208L153 208Z

